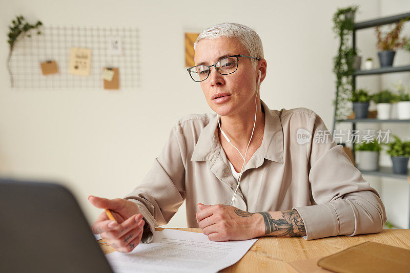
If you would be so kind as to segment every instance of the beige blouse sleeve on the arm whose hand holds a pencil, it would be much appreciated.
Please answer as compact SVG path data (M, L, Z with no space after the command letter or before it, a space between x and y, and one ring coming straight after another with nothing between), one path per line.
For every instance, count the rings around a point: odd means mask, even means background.
M150 243L154 229L166 224L185 200L186 144L178 122L142 183L124 197L137 204L146 225L141 243Z

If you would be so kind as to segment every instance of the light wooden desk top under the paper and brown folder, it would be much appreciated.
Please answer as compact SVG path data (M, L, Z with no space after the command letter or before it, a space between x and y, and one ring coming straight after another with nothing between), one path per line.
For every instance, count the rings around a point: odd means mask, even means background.
M162 230L163 228L156 228ZM201 232L200 228L172 228ZM99 240L104 242L105 239ZM236 264L222 272L296 272L287 262L329 256L347 247L373 241L410 249L410 229L383 229L381 233L336 236L306 241L301 237L261 237ZM114 251L101 245L104 253Z

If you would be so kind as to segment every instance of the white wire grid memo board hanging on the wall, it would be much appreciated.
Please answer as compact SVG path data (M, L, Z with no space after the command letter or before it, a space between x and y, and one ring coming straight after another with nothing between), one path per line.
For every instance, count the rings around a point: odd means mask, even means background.
M140 87L139 33L137 28L43 26L42 33L20 40L12 53L10 69L18 89L103 89L105 67L119 69L119 88ZM121 55L110 55L109 39L119 37ZM91 50L89 76L68 73L71 48ZM40 62L55 60L57 74L43 75Z

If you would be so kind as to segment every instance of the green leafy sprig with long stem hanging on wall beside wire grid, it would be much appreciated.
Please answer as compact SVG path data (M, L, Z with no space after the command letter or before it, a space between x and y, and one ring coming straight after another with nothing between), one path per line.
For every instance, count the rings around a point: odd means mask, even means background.
M16 16L16 19L11 20L12 26L9 26L10 32L8 33L8 40L7 43L9 44L9 55L7 56L7 71L10 75L10 83L11 87L14 87L14 80L13 74L10 70L10 59L11 54L13 53L13 49L18 41L24 39L25 36L31 37L30 30L31 29L38 29L40 26L43 25L42 22L37 21L35 25L31 25L27 23L23 16ZM41 34L41 31L37 31L37 35Z

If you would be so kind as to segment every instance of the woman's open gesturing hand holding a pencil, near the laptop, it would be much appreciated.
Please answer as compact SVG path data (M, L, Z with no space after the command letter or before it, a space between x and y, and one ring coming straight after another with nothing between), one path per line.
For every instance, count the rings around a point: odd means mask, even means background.
M101 213L91 227L94 234L100 234L115 250L131 252L141 241L145 221L138 206L125 199L106 199L89 196L95 207L110 209L116 221L110 220L105 212Z

